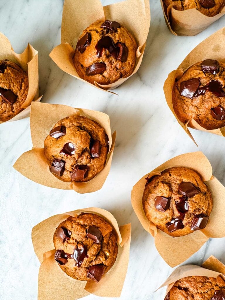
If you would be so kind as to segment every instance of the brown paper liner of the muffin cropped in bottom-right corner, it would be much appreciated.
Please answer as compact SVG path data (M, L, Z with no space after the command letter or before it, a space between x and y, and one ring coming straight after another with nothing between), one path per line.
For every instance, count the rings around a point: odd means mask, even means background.
M201 267L198 265L179 266L172 272L172 274L170 274L167 280L158 289L167 286L167 295L177 280L189 276L205 276L214 278L221 276L223 280L225 280L225 265L211 255L205 262L203 262Z

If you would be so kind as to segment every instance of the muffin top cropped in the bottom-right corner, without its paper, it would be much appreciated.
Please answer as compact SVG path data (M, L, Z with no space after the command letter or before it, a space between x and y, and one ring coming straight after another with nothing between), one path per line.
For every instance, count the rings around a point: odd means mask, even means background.
M189 276L177 280L165 300L224 300L225 281L204 276Z

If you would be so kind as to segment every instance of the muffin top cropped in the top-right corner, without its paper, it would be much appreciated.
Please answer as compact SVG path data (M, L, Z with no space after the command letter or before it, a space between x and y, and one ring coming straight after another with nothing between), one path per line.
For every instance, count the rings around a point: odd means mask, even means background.
M225 0L163 0L164 9L170 4L173 4L173 8L176 10L187 10L195 8L205 16L213 17L220 13L225 6Z

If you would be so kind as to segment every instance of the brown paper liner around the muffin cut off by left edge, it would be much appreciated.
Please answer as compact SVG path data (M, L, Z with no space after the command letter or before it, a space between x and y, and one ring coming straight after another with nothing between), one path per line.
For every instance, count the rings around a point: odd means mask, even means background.
M39 86L38 86L38 51L35 50L29 43L22 54L17 54L13 51L10 41L5 35L0 32L0 60L8 59L18 64L26 73L28 73L29 89L27 98L22 104L22 111L6 122L12 122L24 119L30 114L30 105L32 101L39 102ZM0 123L6 123L1 122Z

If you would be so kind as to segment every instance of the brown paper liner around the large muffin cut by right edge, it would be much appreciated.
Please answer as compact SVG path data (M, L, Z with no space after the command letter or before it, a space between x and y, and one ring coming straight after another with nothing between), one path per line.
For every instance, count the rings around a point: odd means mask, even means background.
M199 124L197 124L197 122L194 119L190 119L185 124L181 122L176 116L176 113L173 109L173 102L172 102L172 91L173 91L175 79L180 79L185 70L187 70L190 66L196 64L197 62L203 61L204 59L216 59L217 61L224 63L225 62L224 52L225 52L225 27L218 30L213 35L210 35L207 39L205 39L199 45L197 45L186 56L186 58L184 58L184 60L179 65L177 70L172 71L168 75L164 83L164 94L165 94L167 104L170 107L170 110L172 111L173 115L177 119L178 123L182 126L182 128L185 130L185 132L189 135L189 137L193 140L194 143L196 142L187 127L210 132L213 134L218 134L224 137L225 126L218 129L207 130L202 126L200 126Z

